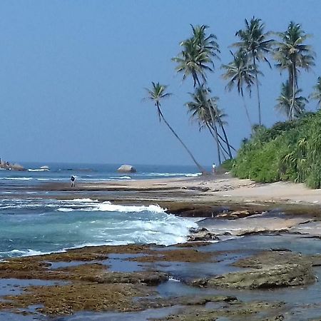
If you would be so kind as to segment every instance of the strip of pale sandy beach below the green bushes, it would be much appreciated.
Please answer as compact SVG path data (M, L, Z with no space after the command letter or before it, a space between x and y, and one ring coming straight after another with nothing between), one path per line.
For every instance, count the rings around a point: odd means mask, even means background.
M63 183L44 185L44 190L109 191L105 200L191 203L286 203L321 205L321 190L312 190L303 183L255 183L233 178L229 173L200 175L197 178L160 178L153 180L126 180L124 182L78 183L72 189ZM126 193L121 193L126 192ZM121 197L119 197L119 195Z

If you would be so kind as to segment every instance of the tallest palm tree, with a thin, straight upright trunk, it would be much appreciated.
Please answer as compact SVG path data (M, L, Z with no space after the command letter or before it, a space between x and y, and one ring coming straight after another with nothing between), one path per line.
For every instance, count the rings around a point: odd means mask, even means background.
M267 39L270 36L270 32L264 32L265 24L261 19L253 18L250 22L245 19L245 29L240 29L235 33L235 36L240 38L239 42L233 44L233 46L238 47L243 50L252 58L253 67L255 71L258 71L257 63L260 61L266 61L269 66L270 62L267 60L266 55L272 51L272 44L274 40ZM260 107L260 91L259 91L259 81L258 73L255 73L255 83L258 93L258 116L259 124L261 125L261 107Z

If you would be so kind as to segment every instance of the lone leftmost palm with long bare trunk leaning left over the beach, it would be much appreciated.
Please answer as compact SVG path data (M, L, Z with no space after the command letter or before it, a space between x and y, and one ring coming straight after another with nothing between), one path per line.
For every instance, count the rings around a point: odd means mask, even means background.
M205 173L204 168L198 163L198 161L195 160L193 154L190 152L190 150L187 148L187 146L185 145L185 143L183 143L183 141L180 139L180 137L178 136L177 133L175 133L175 131L173 130L173 128L170 126L170 124L168 123L168 121L166 121L163 112L161 111L161 101L164 98L168 98L169 96L171 96L171 93L166 93L166 89L168 86L165 85L161 85L161 83L154 83L152 82L152 88L148 89L146 88L146 91L148 93L148 96L146 97L147 99L153 101L155 103L155 106L157 108L157 113L158 113L158 118L159 121L163 120L164 123L166 124L166 126L168 126L168 128L170 129L170 131L173 133L173 135L178 139L178 141L183 145L183 147L185 148L185 150L188 152L188 154L190 155L190 157L193 159L193 162L195 163L195 165L198 167L198 170L200 170L201 173Z

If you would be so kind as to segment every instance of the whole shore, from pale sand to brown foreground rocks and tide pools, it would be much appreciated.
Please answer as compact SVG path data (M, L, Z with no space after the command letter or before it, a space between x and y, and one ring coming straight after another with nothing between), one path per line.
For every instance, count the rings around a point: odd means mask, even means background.
M126 320L129 313L132 320L283 320L293 311L312 313L310 303L321 290L315 282L321 277L321 190L228 174L77 182L75 188L43 183L21 195L34 189L42 198L158 204L203 220L181 244L86 246L8 258L0 263L0 318ZM309 304L297 307L287 288Z

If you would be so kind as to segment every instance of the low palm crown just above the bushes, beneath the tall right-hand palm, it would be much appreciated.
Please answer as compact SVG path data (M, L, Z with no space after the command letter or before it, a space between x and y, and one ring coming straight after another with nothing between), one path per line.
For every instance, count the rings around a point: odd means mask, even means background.
M277 105L275 109L285 114L289 121L294 118L299 117L305 111L305 103L307 103L307 98L302 96L297 96L302 90L298 89L295 91L294 104L292 104L292 88L290 83L282 83L280 96L277 97Z

